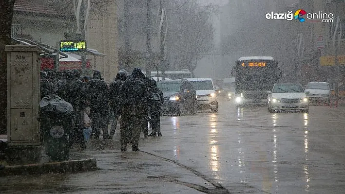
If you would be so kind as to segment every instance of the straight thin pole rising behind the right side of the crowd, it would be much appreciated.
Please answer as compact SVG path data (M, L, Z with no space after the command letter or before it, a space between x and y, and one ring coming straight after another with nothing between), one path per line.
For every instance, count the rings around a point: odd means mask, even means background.
M151 57L152 57L152 50L151 50L151 0L147 0L146 4L146 76L151 78Z

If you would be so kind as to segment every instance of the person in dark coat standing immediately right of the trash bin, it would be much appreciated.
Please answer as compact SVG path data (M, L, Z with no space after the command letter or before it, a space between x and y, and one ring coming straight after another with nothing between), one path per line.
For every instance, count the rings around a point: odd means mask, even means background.
M70 134L71 144L80 142L80 148L85 148L83 137L85 84L77 80L73 71L65 72L66 79L55 84L55 94L73 106L74 126Z

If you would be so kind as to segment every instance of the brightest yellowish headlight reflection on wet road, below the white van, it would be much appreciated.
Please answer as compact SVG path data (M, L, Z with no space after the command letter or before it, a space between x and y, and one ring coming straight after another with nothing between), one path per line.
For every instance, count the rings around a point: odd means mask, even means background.
M209 161L209 166L212 171L212 177L214 179L219 179L219 149L218 149L218 126L217 126L217 115L210 115L210 135L209 135L209 145L211 159Z

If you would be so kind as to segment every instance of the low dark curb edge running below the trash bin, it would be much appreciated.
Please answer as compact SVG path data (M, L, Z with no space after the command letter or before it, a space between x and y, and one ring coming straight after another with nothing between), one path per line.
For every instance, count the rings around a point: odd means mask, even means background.
M90 158L67 160L62 162L5 166L3 170L0 170L0 177L10 175L35 175L46 173L77 173L94 170L97 170L97 160L95 158Z

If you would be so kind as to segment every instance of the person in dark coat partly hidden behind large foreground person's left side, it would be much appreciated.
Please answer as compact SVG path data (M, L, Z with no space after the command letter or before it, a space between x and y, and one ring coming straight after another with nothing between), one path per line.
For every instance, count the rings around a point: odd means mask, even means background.
M116 77L114 79L114 82L112 82L109 86L109 101L110 101L110 108L114 112L114 117L113 117L113 123L112 123L112 128L110 131L109 139L113 139L113 136L115 134L116 130L116 125L119 116L121 115L120 111L120 88L122 84L127 80L128 78L128 72L125 70L120 70L117 72Z

